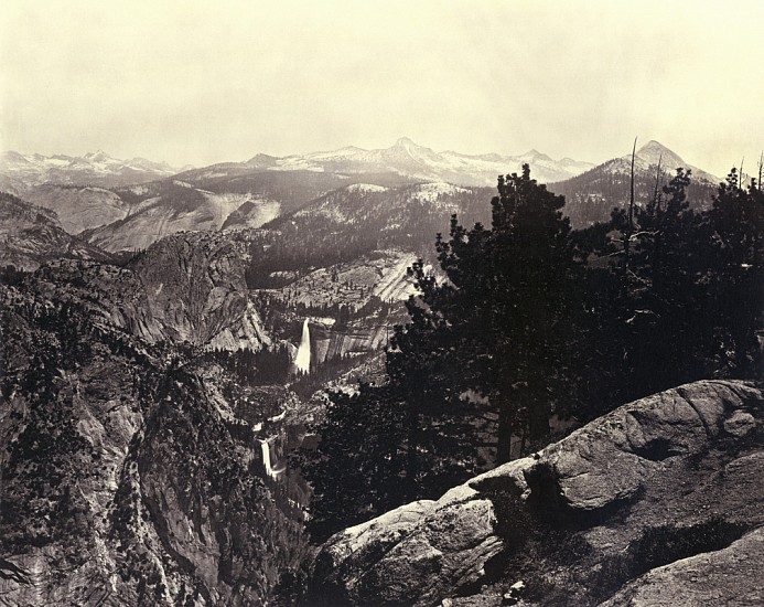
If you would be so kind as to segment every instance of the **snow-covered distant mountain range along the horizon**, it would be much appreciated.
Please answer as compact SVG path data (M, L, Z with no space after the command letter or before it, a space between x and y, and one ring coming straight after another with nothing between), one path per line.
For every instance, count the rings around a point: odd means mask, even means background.
M261 171L311 171L344 175L387 173L415 181L494 185L497 175L519 171L526 162L542 182L569 179L593 167L590 162L570 158L553 160L536 150L520 156L435 152L406 137L386 149L347 147L283 158L259 153L246 162L222 162L202 169L175 168L146 158L119 160L100 150L82 157L7 151L0 155L0 191L22 195L43 183L118 188L179 173L180 179L194 182Z

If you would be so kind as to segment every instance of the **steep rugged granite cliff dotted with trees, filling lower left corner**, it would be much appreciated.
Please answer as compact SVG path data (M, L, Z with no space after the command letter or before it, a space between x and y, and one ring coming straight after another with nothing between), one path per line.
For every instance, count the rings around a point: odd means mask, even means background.
M304 546L252 423L270 405L238 417L222 370L82 288L0 286L0 605L262 604Z

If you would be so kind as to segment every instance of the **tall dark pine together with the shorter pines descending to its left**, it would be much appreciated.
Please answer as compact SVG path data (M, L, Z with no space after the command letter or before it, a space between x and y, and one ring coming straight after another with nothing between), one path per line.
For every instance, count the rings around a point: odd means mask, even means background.
M419 295L395 330L387 383L331 395L321 441L303 450L314 537L437 498L529 448L571 405L583 256L563 204L525 166L499 179L489 230L454 216L438 235L444 277L410 268Z

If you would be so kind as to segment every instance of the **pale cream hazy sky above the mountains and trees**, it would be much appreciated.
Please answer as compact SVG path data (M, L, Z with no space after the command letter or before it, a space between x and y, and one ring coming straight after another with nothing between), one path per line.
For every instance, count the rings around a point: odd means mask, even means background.
M725 6L727 4L727 6ZM764 2L2 0L0 149L175 166L408 136L724 174L764 148Z

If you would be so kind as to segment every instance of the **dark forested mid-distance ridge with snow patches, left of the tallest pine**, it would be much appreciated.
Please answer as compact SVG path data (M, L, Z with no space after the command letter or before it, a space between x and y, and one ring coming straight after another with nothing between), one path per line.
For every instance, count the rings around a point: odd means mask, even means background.
M467 225L489 219L491 195L487 188L446 183L334 190L251 235L249 286L271 287L273 273L326 268L380 249L431 256L435 234L448 233L453 213Z

